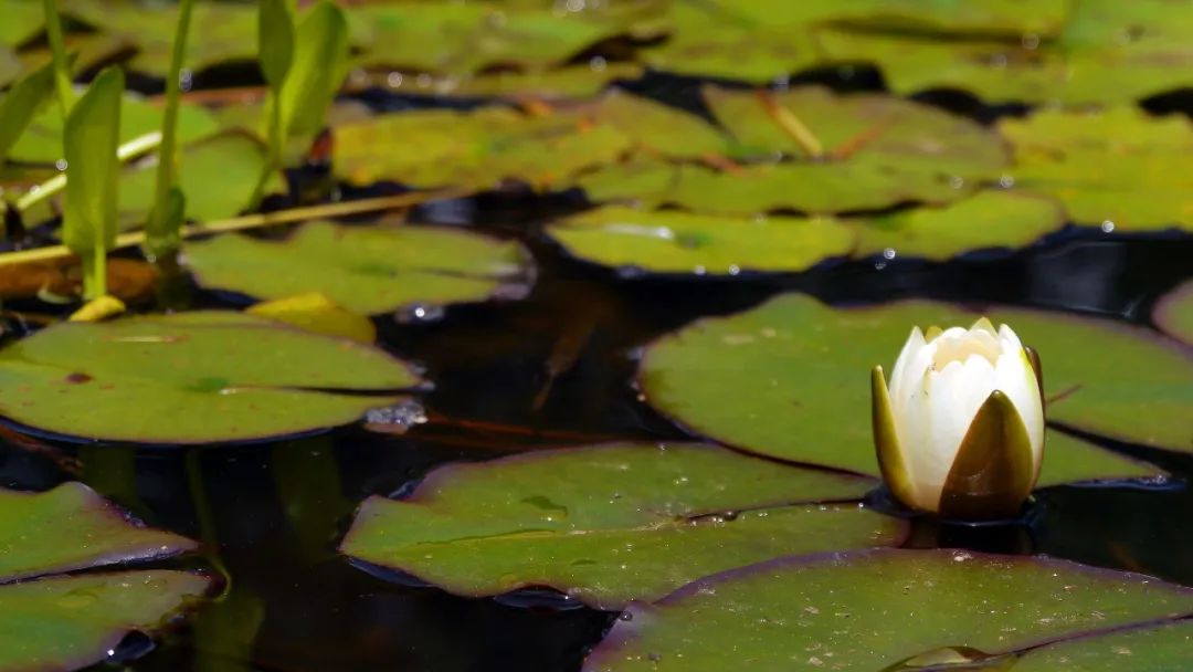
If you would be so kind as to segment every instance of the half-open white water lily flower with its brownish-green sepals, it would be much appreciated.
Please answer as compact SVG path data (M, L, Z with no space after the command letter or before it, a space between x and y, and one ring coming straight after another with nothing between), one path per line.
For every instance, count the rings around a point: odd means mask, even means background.
M871 376L874 446L891 493L948 518L1013 516L1039 476L1039 357L1007 325L919 327Z

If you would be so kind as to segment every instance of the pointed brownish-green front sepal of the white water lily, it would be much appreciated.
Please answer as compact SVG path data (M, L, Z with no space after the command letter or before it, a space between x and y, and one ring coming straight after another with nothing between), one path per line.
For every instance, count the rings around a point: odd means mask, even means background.
M1003 518L1019 512L1036 485L1032 443L1019 411L1001 390L970 423L940 492L945 518Z

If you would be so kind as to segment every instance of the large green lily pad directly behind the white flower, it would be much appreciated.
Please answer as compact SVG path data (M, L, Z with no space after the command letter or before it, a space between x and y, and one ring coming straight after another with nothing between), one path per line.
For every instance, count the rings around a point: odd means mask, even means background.
M989 316L1039 351L1051 420L1193 451L1193 359L1174 344L1102 320L1012 308ZM890 368L914 325L976 317L922 301L834 309L785 295L654 343L639 384L654 407L693 431L762 455L876 475L870 370ZM1154 473L1052 431L1039 485Z

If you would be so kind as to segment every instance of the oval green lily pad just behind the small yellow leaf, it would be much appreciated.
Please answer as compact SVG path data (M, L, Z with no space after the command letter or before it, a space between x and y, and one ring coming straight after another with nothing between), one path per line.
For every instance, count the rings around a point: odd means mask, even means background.
M531 278L517 242L428 227L310 222L283 242L224 235L184 252L203 286L256 298L320 292L369 314L483 301L525 290Z

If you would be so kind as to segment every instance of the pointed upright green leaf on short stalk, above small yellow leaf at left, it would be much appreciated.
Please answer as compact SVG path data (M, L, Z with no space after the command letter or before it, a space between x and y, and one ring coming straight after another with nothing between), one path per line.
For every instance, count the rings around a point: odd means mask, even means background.
M104 294L104 255L116 242L123 92L124 74L104 69L70 110L63 134L68 180L62 239L84 260L88 298Z

